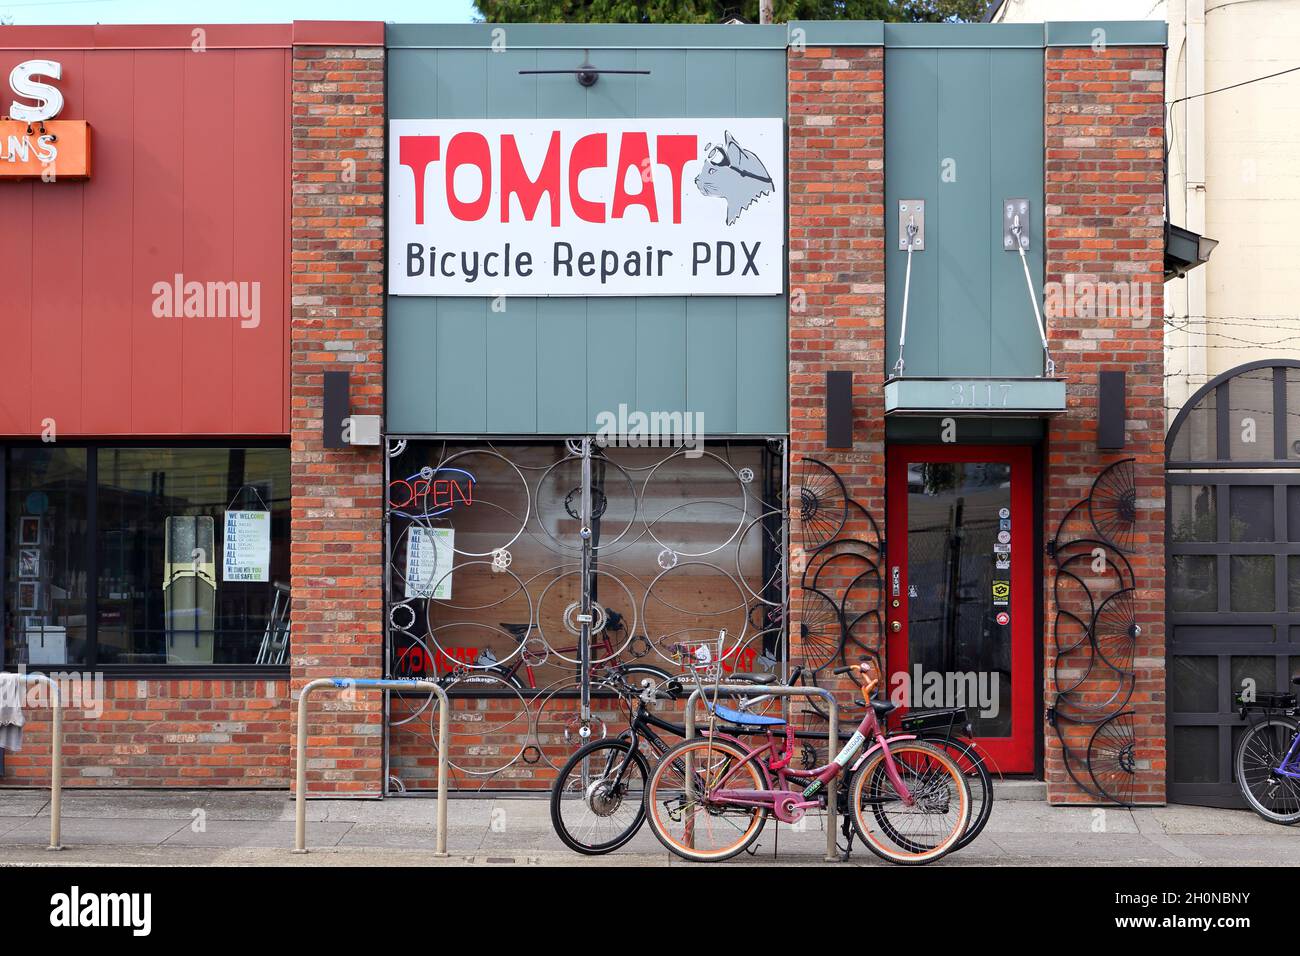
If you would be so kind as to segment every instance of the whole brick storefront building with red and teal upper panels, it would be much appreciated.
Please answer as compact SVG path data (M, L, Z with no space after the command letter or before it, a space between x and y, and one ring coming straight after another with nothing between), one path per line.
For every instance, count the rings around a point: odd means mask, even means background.
M0 183L84 220L4 255L5 661L105 675L75 784L286 787L292 688L437 674L456 786L541 788L584 635L654 675L725 630L963 695L1052 801L1166 799L1162 25L211 30L64 53L92 176ZM155 272L261 320L156 320ZM321 705L313 792L432 786L432 717Z

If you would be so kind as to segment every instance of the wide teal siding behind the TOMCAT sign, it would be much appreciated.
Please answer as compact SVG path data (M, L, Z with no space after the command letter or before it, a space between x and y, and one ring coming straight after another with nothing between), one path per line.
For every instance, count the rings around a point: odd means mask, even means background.
M650 118L784 117L785 29L517 33L486 49L490 27L447 40L434 27L389 27L389 117ZM589 90L572 75L592 60L650 75L608 75ZM715 48L729 38L736 48ZM446 47L425 42L443 38ZM550 43L545 42L550 38ZM694 43L689 42L694 38ZM703 414L710 434L786 431L785 297L490 299L389 297L386 427L393 434L554 434L595 431L619 405Z

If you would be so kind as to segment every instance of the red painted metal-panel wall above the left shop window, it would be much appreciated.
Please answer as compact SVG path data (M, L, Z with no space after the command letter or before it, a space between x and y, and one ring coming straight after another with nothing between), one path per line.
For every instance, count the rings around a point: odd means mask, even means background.
M31 59L94 165L0 181L0 436L287 434L290 51L0 49L0 81ZM256 326L156 316L177 273L257 284Z

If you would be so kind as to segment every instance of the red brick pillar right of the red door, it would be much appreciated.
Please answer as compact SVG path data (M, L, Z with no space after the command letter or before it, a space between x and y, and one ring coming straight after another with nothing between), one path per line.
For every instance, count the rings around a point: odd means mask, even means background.
M1138 459L1136 553L1128 557L1141 633L1128 709L1136 711L1140 803L1165 799L1164 64L1158 47L1049 48L1045 78L1046 282L1065 290L1056 299L1065 308L1048 316L1048 333L1069 388L1069 411L1052 420L1049 433L1045 535L1050 541L1106 464ZM1145 294L1140 306L1130 299L1122 310L1071 308L1084 304L1070 300L1071 287L1096 289L1098 282L1138 282ZM1050 306L1050 285L1046 298ZM1087 315L1076 316L1078 311ZM1126 447L1118 453L1097 450L1102 371L1127 373ZM1056 691L1053 572L1049 559L1044 627L1049 704ZM1082 760L1095 727L1061 726L1071 753ZM1050 727L1045 740L1048 799L1088 803L1070 780Z

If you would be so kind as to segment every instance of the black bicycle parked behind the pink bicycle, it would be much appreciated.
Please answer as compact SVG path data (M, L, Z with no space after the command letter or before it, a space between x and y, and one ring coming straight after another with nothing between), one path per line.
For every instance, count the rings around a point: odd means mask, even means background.
M789 684L800 683L798 667L790 672ZM727 675L731 683L771 684L776 682L772 674L733 672ZM658 698L680 700L686 691L676 680L659 685L633 687L621 667L611 667L606 672L603 685L612 689L628 706L628 730L616 737L595 740L576 750L560 767L551 786L551 825L566 847L588 856L598 856L619 849L628 843L645 822L645 784L650 775L651 760L658 761L672 744L658 731L677 737L685 736L685 727L672 723L650 710L650 704ZM741 697L734 708L738 713L754 713L776 698L762 692L753 697ZM863 705L864 706L864 705ZM816 714L819 711L809 711ZM968 845L979 836L993 810L993 779L988 773L983 756L968 739L970 722L963 708L948 710L913 711L902 718L901 728L918 737L935 743L950 753L966 771L971 790L971 817L966 832L954 849ZM727 724L722 732L751 734L754 727L742 723ZM965 736L962 736L965 735ZM826 731L797 730L796 739L802 741L801 757L814 766L822 760L819 745L826 747ZM841 734L840 740L848 741L850 735ZM646 744L650 760L642 749ZM849 821L846 813L846 791L838 788L841 819ZM848 858L853 851L852 829L846 832L848 844L841 851Z

